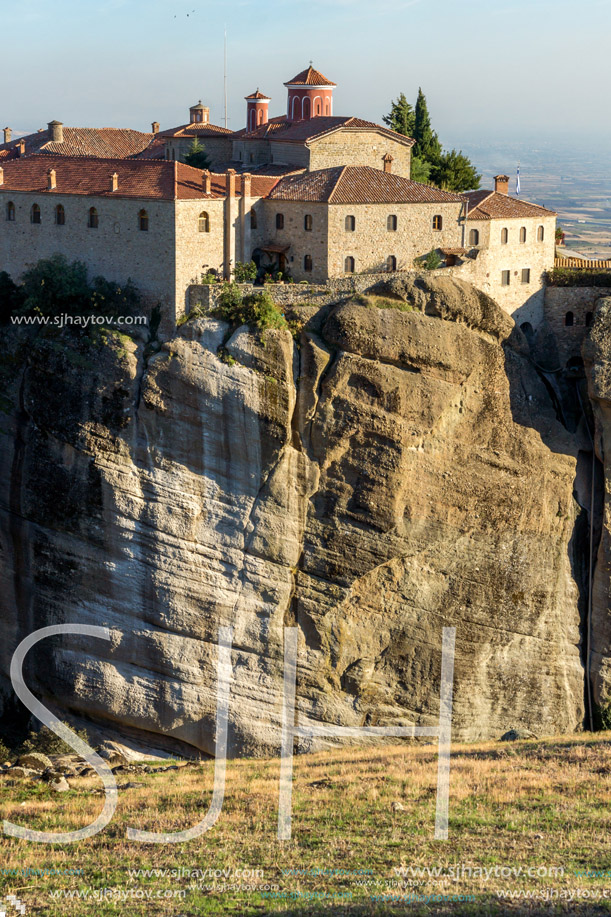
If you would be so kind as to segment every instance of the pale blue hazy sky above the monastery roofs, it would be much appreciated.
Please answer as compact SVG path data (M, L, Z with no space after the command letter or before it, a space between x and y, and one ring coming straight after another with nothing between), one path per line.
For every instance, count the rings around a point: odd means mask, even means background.
M380 121L422 86L446 146L611 144L611 0L0 0L2 126L150 130L202 99L229 127L260 87L310 60L337 83L335 114Z

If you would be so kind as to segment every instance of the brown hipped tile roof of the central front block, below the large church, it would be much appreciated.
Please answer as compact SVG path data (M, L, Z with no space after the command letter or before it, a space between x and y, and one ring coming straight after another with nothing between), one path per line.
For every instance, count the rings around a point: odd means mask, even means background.
M280 179L271 200L326 201L330 204L460 203L461 194L440 191L420 182L372 169L337 166Z

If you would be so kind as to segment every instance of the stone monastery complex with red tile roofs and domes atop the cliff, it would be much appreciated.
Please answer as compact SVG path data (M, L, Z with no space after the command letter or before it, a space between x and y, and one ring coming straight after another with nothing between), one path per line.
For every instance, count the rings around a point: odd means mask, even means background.
M324 283L355 273L412 270L437 251L447 269L489 293L519 321L543 318L556 215L494 191L455 194L410 179L414 141L333 113L335 84L311 66L285 83L286 113L246 97L246 124L189 121L151 133L46 130L0 145L0 270L14 279L61 252L92 275L131 278L168 317L184 313L203 273L236 262ZM211 162L182 160L194 139Z

